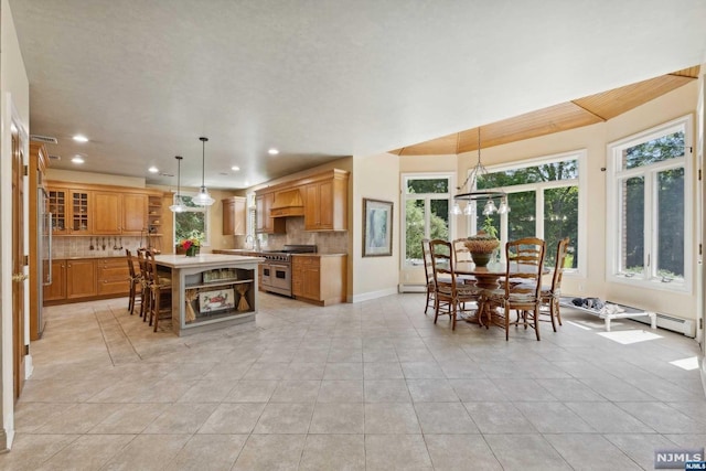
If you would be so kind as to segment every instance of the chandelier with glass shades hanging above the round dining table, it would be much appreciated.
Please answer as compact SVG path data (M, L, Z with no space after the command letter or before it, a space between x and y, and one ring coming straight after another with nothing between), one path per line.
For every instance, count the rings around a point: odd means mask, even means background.
M458 193L453 196L454 203L451 208L451 214L467 216L475 214L477 202L485 202L483 206L483 215L489 216L493 213L505 214L510 213L510 205L507 204L507 193L502 190L478 190L478 182L483 176L488 176L488 170L481 163L481 128L478 127L478 162L475 167L471 169L463 184L458 186L457 190L466 190L463 193ZM495 205L498 200L498 205ZM459 201L466 201L466 207L461 210Z

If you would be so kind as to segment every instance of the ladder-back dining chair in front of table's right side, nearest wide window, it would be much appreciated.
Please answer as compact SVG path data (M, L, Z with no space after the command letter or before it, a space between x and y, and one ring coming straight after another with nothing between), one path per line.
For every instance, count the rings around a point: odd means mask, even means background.
M517 312L525 329L535 330L539 340L539 311L542 306L542 272L544 268L545 243L536 237L525 237L505 244L505 278L502 288L486 292L486 301L495 311L488 322L505 329L505 341L510 340L510 312ZM500 308L502 313L498 313Z

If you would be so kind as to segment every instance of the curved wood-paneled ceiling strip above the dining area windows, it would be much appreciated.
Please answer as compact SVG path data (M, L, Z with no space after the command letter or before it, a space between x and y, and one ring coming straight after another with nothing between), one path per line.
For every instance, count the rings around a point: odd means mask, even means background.
M688 67L637 84L481 126L483 148L607 121L698 78ZM478 149L478 128L391 151L398 156L459 154Z

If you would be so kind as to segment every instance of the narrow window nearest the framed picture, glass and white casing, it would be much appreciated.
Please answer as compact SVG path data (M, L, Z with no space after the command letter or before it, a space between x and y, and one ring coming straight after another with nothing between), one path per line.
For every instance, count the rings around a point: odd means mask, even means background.
M424 265L422 238L450 239L452 234L451 189L453 175L448 173L409 173L402 175L404 224L403 267Z

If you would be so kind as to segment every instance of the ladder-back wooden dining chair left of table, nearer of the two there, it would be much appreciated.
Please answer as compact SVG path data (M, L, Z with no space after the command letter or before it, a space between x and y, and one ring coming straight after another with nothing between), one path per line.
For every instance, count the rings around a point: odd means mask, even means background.
M477 304L480 302L481 289L475 285L464 283L456 274L452 243L434 239L429 243L429 251L436 285L434 323L437 323L440 314L449 314L451 330L456 330L459 312L467 310L467 302L475 301ZM441 311L442 307L446 309L445 312Z

